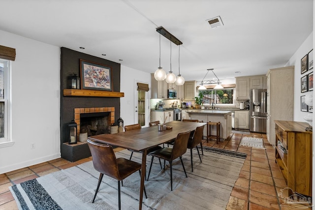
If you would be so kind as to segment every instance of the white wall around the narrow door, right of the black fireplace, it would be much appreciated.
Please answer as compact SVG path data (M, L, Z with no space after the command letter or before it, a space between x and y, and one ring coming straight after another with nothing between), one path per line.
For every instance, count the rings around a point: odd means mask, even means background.
M124 120L124 125L135 123L134 93L137 89L135 82L147 83L151 88L151 74L121 65L120 91L125 93L125 97L120 99L120 117Z

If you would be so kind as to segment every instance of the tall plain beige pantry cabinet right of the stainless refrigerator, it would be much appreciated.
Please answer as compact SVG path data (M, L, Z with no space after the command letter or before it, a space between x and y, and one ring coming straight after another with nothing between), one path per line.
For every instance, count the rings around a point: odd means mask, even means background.
M267 120L267 139L271 145L276 145L274 120L293 121L293 84L294 66L268 70L267 114L269 122Z

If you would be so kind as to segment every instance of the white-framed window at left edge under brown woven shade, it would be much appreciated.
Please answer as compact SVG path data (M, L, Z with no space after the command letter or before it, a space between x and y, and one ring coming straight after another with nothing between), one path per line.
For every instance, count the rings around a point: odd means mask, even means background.
M8 115L8 104L10 100L10 62L9 60L0 59L0 144L10 142ZM1 144L0 147L2 146Z

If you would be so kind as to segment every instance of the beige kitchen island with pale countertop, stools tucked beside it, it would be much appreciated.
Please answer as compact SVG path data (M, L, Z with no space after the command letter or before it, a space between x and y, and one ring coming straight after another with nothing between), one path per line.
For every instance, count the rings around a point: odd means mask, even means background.
M232 132L232 113L231 110L187 110L189 119L198 119L200 122L220 122L220 139L226 139ZM212 128L212 133L216 132L216 128ZM203 135L207 136L207 128L205 127Z

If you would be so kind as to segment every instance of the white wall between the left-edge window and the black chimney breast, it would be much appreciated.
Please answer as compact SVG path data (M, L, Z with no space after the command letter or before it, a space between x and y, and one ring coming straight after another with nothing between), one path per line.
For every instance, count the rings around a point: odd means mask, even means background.
M0 148L0 174L60 157L60 48L0 30L11 62L14 145ZM35 149L31 149L35 143Z

